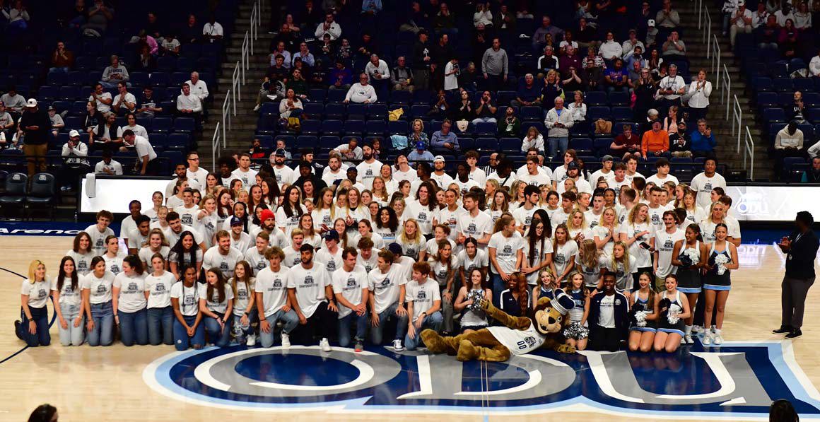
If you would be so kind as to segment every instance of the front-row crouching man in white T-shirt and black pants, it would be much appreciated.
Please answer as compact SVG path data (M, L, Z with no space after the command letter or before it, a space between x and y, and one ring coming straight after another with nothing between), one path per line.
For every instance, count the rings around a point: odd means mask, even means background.
M330 352L330 340L338 327L339 309L333 294L330 275L325 265L313 261L313 247L307 243L299 247L301 262L290 267L287 286L290 305L299 318L298 331L302 343L312 343L313 334L321 335L319 347Z

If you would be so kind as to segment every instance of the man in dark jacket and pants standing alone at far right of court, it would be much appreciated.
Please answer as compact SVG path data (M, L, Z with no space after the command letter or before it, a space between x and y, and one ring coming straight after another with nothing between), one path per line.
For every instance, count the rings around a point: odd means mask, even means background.
M786 275L781 283L781 306L783 314L779 329L774 334L786 334L786 338L798 338L803 333L803 310L806 295L814 284L814 260L818 255L818 236L812 225L814 218L809 211L800 211L795 218L796 230L783 237L777 246L786 253Z

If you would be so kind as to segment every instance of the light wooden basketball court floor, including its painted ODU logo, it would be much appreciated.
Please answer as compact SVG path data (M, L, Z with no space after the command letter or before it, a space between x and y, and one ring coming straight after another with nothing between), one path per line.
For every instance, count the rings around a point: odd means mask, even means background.
M820 288L809 293L803 338L771 334L780 324L785 260L771 245L740 247L722 347L696 343L674 355L539 351L462 365L375 347L62 347L54 325L50 347L25 349L11 327L20 275L33 259L57 275L70 243L0 237L0 420L25 420L44 402L66 421L768 420L778 398L795 403L801 420L820 419Z

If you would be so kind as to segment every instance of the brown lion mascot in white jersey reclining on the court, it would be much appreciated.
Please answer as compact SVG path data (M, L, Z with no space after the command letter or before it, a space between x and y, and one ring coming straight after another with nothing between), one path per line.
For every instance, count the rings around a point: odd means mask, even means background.
M481 301L481 308L503 326L487 327L455 337L441 337L434 330L426 329L421 332L421 340L430 352L447 352L462 362L474 359L506 361L512 355L523 355L539 347L574 353L575 347L563 344L560 335L563 316L574 305L566 293L559 294L554 301L541 297L535 306L534 316L526 318L508 315L484 300Z

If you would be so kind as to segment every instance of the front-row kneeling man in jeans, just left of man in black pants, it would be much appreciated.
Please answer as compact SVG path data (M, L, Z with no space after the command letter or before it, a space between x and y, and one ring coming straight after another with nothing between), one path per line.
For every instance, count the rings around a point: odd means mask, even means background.
M262 347L273 346L273 331L276 321L283 322L282 347L290 347L290 332L299 324L296 312L288 302L286 278L288 269L282 266L285 253L280 247L271 247L265 252L265 259L270 264L257 274L254 287L259 311L259 340Z

